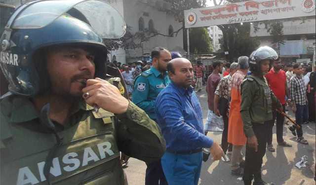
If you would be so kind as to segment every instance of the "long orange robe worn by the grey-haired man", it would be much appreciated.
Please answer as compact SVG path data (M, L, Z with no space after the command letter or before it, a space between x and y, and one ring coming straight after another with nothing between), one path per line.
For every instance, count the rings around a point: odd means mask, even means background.
M231 104L228 120L228 143L244 146L246 144L246 136L243 132L243 123L240 114L240 85L244 78L244 74L237 71L232 76Z

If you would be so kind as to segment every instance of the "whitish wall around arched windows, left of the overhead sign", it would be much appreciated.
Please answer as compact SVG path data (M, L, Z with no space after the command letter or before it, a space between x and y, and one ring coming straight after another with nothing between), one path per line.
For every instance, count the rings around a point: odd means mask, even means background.
M138 32L138 20L140 17L144 19L144 27L148 28L149 20L154 21L154 28L158 33L168 35L169 25L173 26L173 30L177 31L182 27L182 24L175 21L173 15L168 15L164 11L159 11L155 3L157 0L124 0L124 15L128 26L131 26L131 32L134 34ZM161 3L163 3L160 0ZM148 16L144 15L148 13ZM172 50L175 47L183 48L183 31L180 31L177 37L155 36L149 41L143 42L142 47L135 50L128 50L126 57L127 62L134 62L140 60L145 53L151 53L155 47L166 47Z

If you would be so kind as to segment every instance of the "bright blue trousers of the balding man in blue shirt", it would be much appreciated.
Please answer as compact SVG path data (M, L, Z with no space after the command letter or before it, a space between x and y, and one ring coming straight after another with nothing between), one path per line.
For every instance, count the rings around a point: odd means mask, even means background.
M161 165L168 185L197 185L202 157L202 152L173 154L166 151L161 158Z

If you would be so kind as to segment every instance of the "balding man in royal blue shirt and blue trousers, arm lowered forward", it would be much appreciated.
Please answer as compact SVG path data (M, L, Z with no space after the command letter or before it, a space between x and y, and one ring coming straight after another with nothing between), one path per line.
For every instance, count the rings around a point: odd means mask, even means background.
M191 86L191 62L173 59L167 70L171 83L156 100L157 122L166 140L162 169L169 185L197 185L202 148L210 148L214 160L219 160L224 152L204 135L201 106Z

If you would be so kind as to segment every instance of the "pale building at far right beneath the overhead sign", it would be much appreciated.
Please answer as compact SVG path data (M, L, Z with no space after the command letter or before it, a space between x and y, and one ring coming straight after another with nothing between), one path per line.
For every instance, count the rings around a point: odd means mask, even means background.
M260 46L268 45L275 48L284 63L300 62L309 63L313 61L313 44L316 38L316 19L311 16L305 19L284 19L283 35L284 44L273 44L272 36L265 29L264 24L259 25L255 32L251 27L250 36L260 39Z

